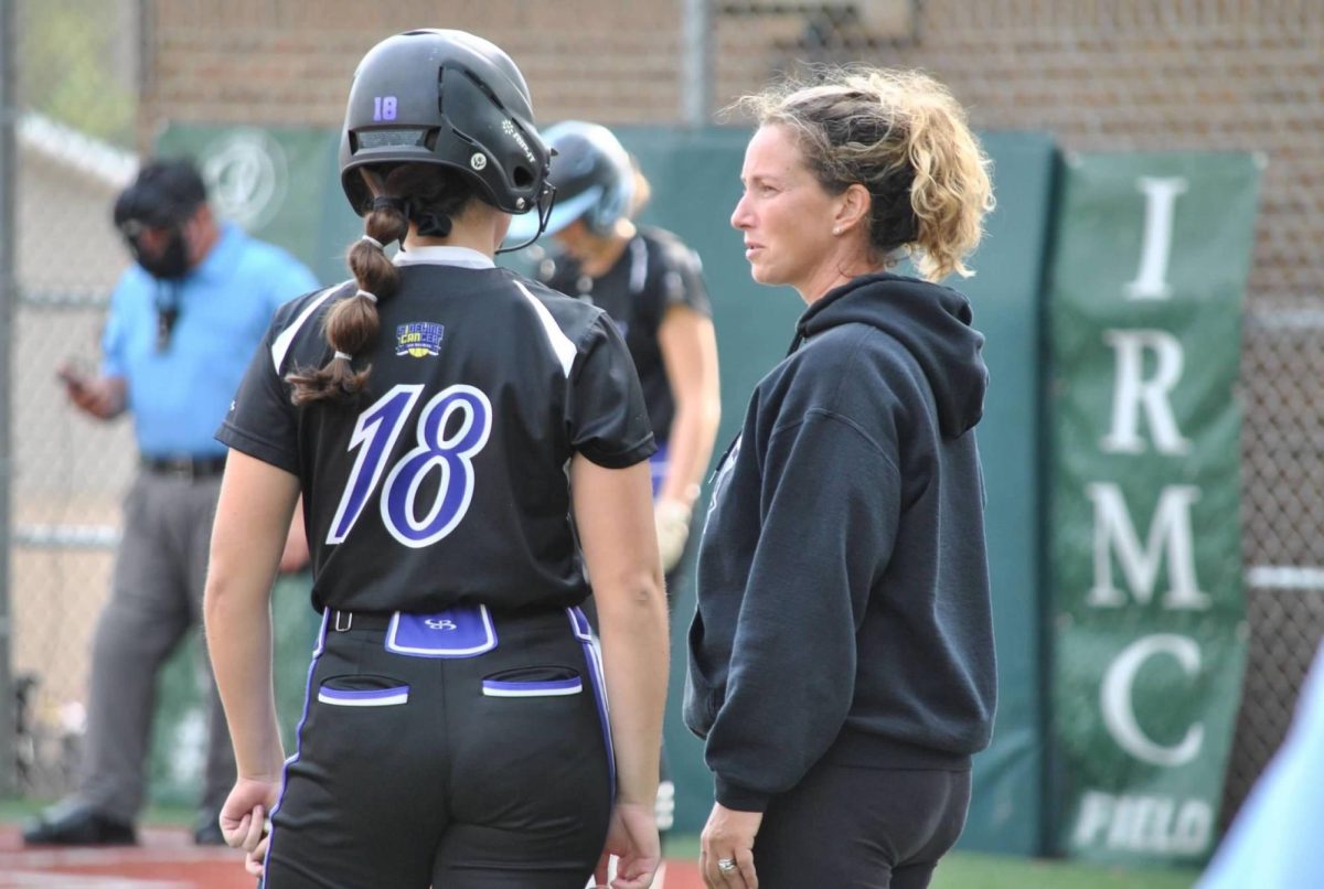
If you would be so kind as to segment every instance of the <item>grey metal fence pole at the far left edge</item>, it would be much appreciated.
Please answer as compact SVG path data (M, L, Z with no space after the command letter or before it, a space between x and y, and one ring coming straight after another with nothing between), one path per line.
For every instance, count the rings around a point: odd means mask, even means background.
M17 159L15 157L15 75L19 65L15 32L16 4L0 1L0 795L17 790L15 758L15 687L13 687L13 620L9 595L11 509L9 479L13 476L13 448L9 435L9 390L12 384L12 355L16 333L15 306L19 302L15 259L15 189L17 187Z

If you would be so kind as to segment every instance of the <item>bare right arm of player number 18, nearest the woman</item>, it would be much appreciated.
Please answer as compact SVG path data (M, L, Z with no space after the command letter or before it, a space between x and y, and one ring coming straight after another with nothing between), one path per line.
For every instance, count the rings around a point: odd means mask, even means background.
M597 603L610 702L616 818L625 810L628 819L645 826L655 852L653 804L666 702L667 626L650 487L646 462L609 470L577 454L571 463L575 521ZM639 874L655 867L655 860L622 859L622 868Z

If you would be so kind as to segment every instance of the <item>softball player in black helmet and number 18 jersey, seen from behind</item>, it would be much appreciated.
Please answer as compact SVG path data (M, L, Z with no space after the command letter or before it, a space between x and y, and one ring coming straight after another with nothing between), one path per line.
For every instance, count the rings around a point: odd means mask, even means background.
M658 865L645 402L600 308L493 265L510 214L545 218L548 155L485 40L397 34L355 74L354 279L277 315L218 433L207 624L240 771L221 823L266 886L581 889L604 843L618 889ZM301 491L323 623L282 766L265 598Z

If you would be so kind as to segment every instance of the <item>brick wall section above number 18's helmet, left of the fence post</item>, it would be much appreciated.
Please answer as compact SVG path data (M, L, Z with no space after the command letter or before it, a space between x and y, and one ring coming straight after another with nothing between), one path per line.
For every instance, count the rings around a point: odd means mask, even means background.
M679 5L563 0L155 0L144 110L193 122L336 126L379 40L462 28L507 50L542 119L669 119L679 107Z

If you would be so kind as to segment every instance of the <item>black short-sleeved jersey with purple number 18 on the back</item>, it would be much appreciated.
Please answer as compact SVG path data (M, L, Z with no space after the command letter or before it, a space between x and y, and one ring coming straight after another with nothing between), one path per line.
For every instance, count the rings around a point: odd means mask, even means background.
M397 265L377 343L354 359L372 364L355 403L295 407L283 380L331 359L322 321L351 282L277 312L217 438L299 476L318 609L579 603L567 462L655 450L620 333L471 250Z

